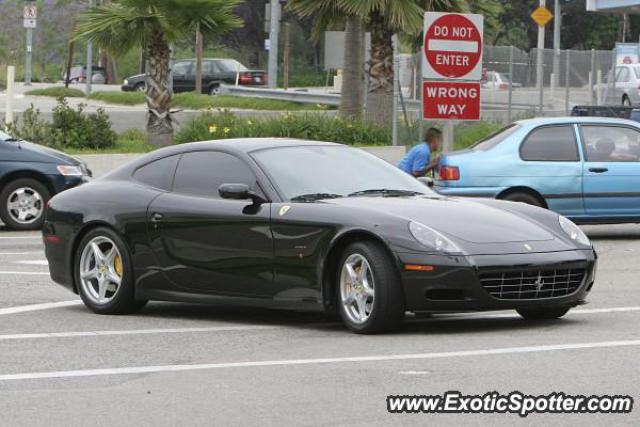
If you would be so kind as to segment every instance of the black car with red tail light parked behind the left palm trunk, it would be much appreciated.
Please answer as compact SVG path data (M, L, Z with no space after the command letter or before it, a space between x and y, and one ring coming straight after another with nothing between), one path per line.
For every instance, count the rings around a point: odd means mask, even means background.
M196 88L196 60L185 59L173 65L173 91L191 92ZM267 83L267 73L261 70L250 70L235 59L204 59L202 61L202 93L217 95L221 84L238 84L262 86ZM122 84L122 90L130 92L143 91L145 75L137 74L128 77Z

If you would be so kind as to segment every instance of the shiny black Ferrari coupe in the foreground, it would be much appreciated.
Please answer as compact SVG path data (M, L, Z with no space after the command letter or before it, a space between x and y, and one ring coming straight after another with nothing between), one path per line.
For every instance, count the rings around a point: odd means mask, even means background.
M51 277L96 313L149 300L339 312L355 332L406 311L585 302L596 254L557 214L440 196L362 150L246 139L164 148L48 204Z

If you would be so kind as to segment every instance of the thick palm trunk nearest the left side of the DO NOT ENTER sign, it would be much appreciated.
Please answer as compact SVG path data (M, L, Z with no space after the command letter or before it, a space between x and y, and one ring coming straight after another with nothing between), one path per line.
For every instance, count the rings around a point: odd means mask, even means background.
M370 15L371 59L365 118L391 127L393 117L393 32L379 12Z

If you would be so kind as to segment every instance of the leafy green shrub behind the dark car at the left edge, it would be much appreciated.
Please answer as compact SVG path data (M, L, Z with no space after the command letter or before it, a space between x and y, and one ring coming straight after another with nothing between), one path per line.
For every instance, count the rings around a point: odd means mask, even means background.
M111 130L109 116L100 108L90 114L83 110L82 104L73 109L65 98L58 98L52 123L47 123L32 104L23 113L22 122L11 125L9 131L18 138L57 149L113 147L117 134Z

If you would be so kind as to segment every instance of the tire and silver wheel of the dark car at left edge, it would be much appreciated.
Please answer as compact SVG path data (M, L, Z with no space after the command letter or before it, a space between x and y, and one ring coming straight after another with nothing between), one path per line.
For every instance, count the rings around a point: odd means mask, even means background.
M40 181L16 179L0 192L0 218L12 230L39 230L50 198L49 189Z

